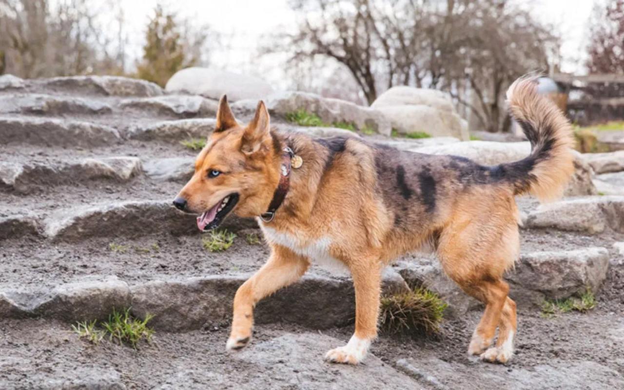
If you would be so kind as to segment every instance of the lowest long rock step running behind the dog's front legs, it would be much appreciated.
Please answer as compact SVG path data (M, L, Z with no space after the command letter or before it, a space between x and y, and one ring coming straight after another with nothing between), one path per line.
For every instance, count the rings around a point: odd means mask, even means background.
M116 308L132 307L139 318L164 331L190 331L220 324L232 316L238 286L251 275L210 275L184 280L155 280L130 286L116 276L89 278L51 290L0 291L0 317L40 316L64 321L105 319ZM400 275L384 275L384 291L407 291ZM340 296L340 300L335 297ZM256 306L256 323L285 321L326 329L349 324L355 298L350 280L308 274ZM328 305L331 303L331 305Z

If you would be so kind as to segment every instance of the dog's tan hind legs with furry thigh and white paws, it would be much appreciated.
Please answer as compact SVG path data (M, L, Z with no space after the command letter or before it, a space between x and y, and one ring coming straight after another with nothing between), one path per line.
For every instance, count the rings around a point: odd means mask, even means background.
M512 199L511 199L512 201ZM507 297L503 273L518 257L515 204L504 197L461 205L439 238L437 253L447 275L467 294L485 304L468 353L484 361L506 363L516 333L515 303ZM499 339L490 348L496 329Z

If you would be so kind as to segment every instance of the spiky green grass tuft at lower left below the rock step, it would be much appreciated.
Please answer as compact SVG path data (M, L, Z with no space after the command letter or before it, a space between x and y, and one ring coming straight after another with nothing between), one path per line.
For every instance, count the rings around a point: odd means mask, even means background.
M80 338L87 339L92 344L99 344L105 336L109 340L121 344L130 344L137 349L139 342L145 339L148 343L152 341L154 329L149 328L147 323L154 318L152 314L147 314L145 319L137 319L130 315L130 309L117 311L113 309L107 321L82 321L72 325L72 329Z

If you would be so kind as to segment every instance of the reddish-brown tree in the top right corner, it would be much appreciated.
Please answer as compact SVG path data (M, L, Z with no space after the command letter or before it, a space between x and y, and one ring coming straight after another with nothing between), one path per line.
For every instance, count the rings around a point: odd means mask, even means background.
M624 73L624 0L594 6L588 52L590 73Z

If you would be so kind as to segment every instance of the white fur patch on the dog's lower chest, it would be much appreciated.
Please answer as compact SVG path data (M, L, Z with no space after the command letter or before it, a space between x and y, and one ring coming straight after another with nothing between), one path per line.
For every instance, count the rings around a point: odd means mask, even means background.
M344 263L329 254L331 238L321 237L316 240L305 240L290 233L278 232L271 227L262 227L266 240L270 243L285 246L298 255L310 258L310 261L334 272L344 273L348 268Z

